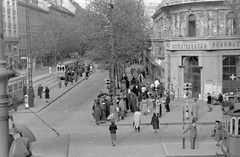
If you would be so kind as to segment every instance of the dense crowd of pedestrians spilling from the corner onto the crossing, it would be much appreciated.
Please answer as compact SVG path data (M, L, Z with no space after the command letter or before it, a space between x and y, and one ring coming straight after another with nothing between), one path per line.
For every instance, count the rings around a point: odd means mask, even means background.
M158 79L152 83L143 83L146 78L144 69L132 68L130 73L130 76L124 74L121 78L121 93L113 98L111 93L100 91L92 107L92 115L97 125L111 122L109 130L113 145L116 140L116 135L112 135L116 134L115 121L124 120L132 112L133 128L135 132L140 132L142 116L152 113L149 123L157 133L163 109L170 112L170 94L165 92L163 83Z

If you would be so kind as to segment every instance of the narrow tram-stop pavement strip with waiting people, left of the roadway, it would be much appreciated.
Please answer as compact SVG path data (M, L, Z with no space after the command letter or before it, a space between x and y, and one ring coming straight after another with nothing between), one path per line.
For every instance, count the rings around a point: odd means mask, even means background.
M93 71L93 73L94 72L95 71ZM92 75L93 73L91 73L90 75ZM39 76L39 78L40 78L40 76ZM46 108L47 106L49 106L51 103L53 103L55 100L60 98L62 95L64 95L68 91L70 91L72 88L77 86L83 80L85 80L83 77L79 77L78 82L77 83L74 82L73 85L71 85L71 83L69 83L67 87L62 85L62 88L59 88L58 86L55 86L54 88L50 89L50 99L48 100L48 102L46 102L46 99L44 98L44 94L43 94L42 99L40 99L38 96L36 96L34 98L34 107L31 107L29 109L25 109L24 104L22 104L18 107L17 112L13 112L13 113L14 114L17 114L17 113L31 113L31 112L38 113L41 110L43 110L44 108Z

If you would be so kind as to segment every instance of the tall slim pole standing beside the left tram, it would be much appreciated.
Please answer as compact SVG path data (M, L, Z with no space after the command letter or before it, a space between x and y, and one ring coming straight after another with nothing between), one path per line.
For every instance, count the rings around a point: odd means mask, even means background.
M27 27L27 46L28 46L28 104L29 107L34 107L34 94L32 82L32 51L31 51L31 30L29 20L29 0L26 0L26 27Z

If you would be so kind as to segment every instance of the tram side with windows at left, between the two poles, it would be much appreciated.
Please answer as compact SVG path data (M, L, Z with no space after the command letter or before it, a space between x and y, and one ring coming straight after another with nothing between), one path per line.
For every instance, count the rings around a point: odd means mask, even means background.
M7 94L9 95L9 105L12 103L12 98L14 95L18 98L19 101L23 101L24 94L26 94L24 90L26 90L27 86L27 76L26 75L20 75L11 78L8 81L8 88L7 88Z

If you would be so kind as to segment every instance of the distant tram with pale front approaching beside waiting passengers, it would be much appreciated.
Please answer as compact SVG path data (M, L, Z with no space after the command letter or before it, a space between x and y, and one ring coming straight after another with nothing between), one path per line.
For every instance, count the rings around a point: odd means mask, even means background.
M64 80L65 79L65 72L68 69L69 70L74 70L74 69L79 68L81 66L84 66L84 58L60 62L56 66L56 71L58 73L58 77L61 80Z

